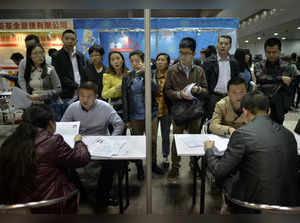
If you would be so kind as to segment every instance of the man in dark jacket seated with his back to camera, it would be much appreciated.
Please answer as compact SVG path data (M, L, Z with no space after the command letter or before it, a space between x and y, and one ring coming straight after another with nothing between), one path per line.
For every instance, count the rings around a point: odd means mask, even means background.
M297 142L289 130L269 117L270 102L260 92L241 101L247 124L235 130L222 157L213 141L205 142L208 168L222 181L230 197L258 204L296 206L298 197ZM239 172L238 177L231 174ZM252 210L228 203L231 213Z

